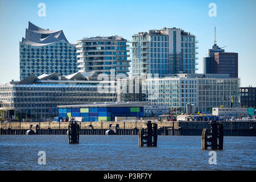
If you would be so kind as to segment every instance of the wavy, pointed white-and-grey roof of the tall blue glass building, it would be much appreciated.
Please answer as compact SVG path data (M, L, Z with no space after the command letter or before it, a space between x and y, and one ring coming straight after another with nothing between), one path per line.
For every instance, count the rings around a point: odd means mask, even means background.
M68 40L62 30L46 30L35 26L31 22L28 22L28 28L26 28L26 38L22 38L22 43L30 46L46 46L60 40Z

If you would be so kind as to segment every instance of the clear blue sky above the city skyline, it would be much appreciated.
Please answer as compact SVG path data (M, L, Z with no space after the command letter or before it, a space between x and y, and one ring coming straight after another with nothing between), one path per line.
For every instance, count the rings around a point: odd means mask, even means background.
M38 16L38 4L46 4L46 17ZM210 17L209 3L216 3L217 17ZM256 86L256 1L14 1L0 0L0 83L19 80L19 42L28 21L49 30L63 30L68 41L84 37L133 34L177 27L199 40L199 71L211 48L214 26L217 44L226 52L238 52L241 86Z

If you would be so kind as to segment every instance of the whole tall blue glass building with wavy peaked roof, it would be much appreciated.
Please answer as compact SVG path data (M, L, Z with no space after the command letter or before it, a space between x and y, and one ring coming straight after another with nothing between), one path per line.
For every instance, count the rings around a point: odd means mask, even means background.
M19 43L20 80L33 73L69 75L78 71L76 47L65 38L62 30L46 30L28 22L26 38Z

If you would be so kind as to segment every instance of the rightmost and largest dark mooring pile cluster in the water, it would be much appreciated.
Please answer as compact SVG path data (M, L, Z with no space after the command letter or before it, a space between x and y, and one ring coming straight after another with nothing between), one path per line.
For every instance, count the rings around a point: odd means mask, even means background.
M210 129L203 129L202 133L202 150L223 150L223 125L220 122L210 121Z

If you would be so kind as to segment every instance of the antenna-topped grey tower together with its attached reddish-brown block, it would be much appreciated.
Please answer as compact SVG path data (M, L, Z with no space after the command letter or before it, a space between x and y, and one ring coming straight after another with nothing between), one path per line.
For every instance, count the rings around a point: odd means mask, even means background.
M238 53L225 52L216 44L216 28L214 32L214 45L208 49L207 56L203 58L203 73L224 73L230 77L238 77Z

